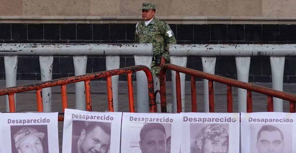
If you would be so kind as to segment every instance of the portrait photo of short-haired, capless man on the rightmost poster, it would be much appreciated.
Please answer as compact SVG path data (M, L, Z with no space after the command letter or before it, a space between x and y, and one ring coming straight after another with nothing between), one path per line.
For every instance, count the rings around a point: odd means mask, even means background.
M292 153L292 124L250 124L250 152Z

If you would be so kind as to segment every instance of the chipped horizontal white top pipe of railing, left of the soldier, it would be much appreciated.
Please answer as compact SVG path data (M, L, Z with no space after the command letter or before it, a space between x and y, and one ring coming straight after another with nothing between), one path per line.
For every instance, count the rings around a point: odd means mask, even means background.
M152 55L152 44L1 44L0 55Z

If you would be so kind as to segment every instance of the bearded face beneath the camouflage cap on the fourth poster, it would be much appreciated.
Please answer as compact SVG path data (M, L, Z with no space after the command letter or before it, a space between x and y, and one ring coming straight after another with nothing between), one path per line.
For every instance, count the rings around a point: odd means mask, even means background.
M205 139L203 153L226 153L228 151L228 138L223 137L219 141Z

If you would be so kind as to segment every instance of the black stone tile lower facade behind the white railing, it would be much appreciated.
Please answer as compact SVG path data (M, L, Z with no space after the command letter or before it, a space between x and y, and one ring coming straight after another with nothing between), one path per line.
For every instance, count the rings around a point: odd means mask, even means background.
M0 24L0 43L134 43L136 24ZM170 24L178 44L295 44L296 25ZM5 79L0 57L0 79ZM104 56L88 57L87 73L106 70ZM120 67L134 65L120 57ZM188 57L187 67L202 70L200 57ZM168 71L168 75L169 75ZM237 78L235 57L217 57L215 74ZM54 57L53 79L74 75L72 57ZM38 57L19 57L18 80L40 80ZM135 79L135 75L133 74ZM120 80L126 80L121 75ZM167 77L171 80L170 77ZM190 76L186 76L190 80ZM197 79L201 80L201 79ZM250 82L271 82L269 57L251 57ZM284 83L296 83L296 58L285 60Z

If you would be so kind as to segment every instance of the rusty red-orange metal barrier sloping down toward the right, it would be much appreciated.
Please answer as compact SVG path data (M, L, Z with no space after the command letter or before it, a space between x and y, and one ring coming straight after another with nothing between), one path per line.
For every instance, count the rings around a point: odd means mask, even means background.
M257 93L262 93L268 96L267 98L267 111L274 111L273 107L273 97L284 99L290 101L290 112L295 113L295 102L296 95L291 93L286 93L282 91L277 91L271 88L262 87L259 85L254 85L251 83L246 83L230 78L221 77L218 75L213 75L210 73L201 72L198 70L193 70L189 68L184 68L178 65L165 64L160 70L160 103L161 103L161 112L166 112L166 88L165 88L165 73L166 70L170 69L176 71L176 97L177 97L177 112L182 111L181 107L181 82L180 82L180 73L185 73L191 75L191 99L192 99L192 112L197 112L196 104L196 85L195 77L203 78L209 80L209 108L210 112L214 112L214 81L223 83L227 85L227 112L232 113L232 89L231 86L242 88L247 90L247 112L252 112L252 91Z

